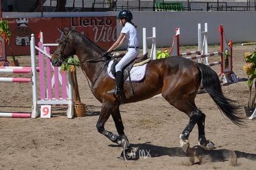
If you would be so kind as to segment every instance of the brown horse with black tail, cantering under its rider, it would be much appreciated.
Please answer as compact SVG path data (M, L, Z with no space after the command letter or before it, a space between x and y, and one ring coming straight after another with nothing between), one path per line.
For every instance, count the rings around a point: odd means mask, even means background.
M126 145L129 149L130 145L124 134L124 125L119 111L121 100L118 96L107 93L114 87L115 81L107 75L109 59L102 56L104 50L75 30L62 29L62 32L63 36L51 58L53 66L61 66L69 56L74 56L74 54L78 56L80 66L90 80L93 95L102 103L100 117L96 124L98 132L120 146ZM195 105L195 96L201 82L221 112L234 124L242 125L242 118L238 115L240 107L234 105L233 100L223 95L216 72L204 64L183 57L150 61L145 78L141 82L132 82L134 93L130 91L130 83L124 83L123 102L146 100L161 93L169 104L189 116L189 123L180 135L184 152L189 148L188 139L195 124L198 126L200 147L211 150L215 148L215 145L205 137L205 114ZM104 128L110 115L114 119L119 135Z

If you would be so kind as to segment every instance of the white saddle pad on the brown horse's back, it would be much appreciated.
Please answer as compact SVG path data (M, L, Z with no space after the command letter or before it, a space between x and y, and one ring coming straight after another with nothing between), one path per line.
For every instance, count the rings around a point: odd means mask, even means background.
M109 77L111 79L115 80L115 78L111 72L112 64L113 64L113 60L111 60L109 62L107 72L108 72ZM132 67L132 69L130 70L130 80L132 82L140 82L145 77L147 65L148 64L143 64L142 66ZM128 82L128 81L129 81L129 77L127 77L125 82Z

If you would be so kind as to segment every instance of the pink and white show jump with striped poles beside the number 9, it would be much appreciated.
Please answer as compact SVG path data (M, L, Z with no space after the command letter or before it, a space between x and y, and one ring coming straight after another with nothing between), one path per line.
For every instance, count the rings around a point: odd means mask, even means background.
M4 74L31 74L31 78L0 77L0 82L32 83L33 105L32 113L0 113L0 117L31 117L40 116L40 105L67 106L67 117L74 117L74 98L70 72L60 72L60 67L51 66L49 46L58 44L43 44L43 32L40 41L35 45L35 35L31 35L30 54L31 67L0 67ZM39 67L36 67L36 51L38 51ZM38 72L39 71L39 72ZM39 82L36 76L39 74ZM40 90L38 90L40 89ZM39 98L38 98L39 97Z

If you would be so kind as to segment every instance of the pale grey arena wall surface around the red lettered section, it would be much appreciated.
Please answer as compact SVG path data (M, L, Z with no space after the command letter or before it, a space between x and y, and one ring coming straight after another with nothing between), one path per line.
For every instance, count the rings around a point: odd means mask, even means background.
M140 35L140 46L142 46L142 30L147 28L147 36L152 35L152 27L156 27L156 46L170 46L175 28L181 30L180 45L197 45L197 23L208 23L208 44L216 45L220 42L218 28L224 26L227 41L233 43L255 42L256 41L256 11L245 12L142 12L133 11L133 22L137 25ZM3 12L3 19L10 18L31 18L31 17L95 17L115 16L114 12ZM33 24L33 23L30 23ZM121 30L117 22L117 36ZM60 25L61 26L61 25ZM47 25L41 25L47 27ZM202 28L203 29L203 28ZM47 29L45 36L48 35ZM51 32L52 30L49 30ZM150 46L150 42L148 46ZM124 45L123 48L126 46Z

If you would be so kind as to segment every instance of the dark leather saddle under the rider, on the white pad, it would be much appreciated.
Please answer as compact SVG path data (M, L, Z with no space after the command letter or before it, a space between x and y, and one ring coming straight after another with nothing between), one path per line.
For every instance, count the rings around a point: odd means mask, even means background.
M120 54L119 56L115 56L114 59L113 59L113 64L111 66L111 73L114 75L114 77L116 77L116 64L122 59L122 57L124 55L125 54ZM141 66L141 65L146 64L148 62L150 62L150 58L148 57L148 53L145 53L142 56L136 57L135 59L130 61L129 64L124 66L124 68L122 69L122 73L124 75L124 80L126 80L127 77L129 77L129 80L130 80L130 69L132 69L132 67Z

